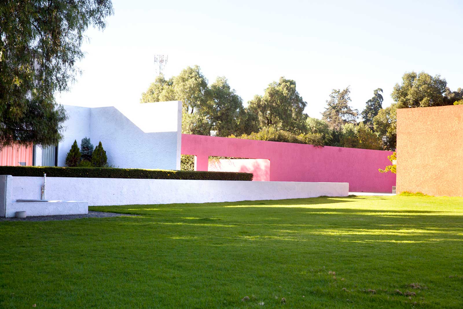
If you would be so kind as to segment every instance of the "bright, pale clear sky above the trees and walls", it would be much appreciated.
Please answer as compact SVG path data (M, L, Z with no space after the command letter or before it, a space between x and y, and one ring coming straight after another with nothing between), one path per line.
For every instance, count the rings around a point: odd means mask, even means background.
M244 104L280 76L294 79L309 116L332 89L351 87L360 111L407 71L440 74L463 88L463 1L113 0L104 32L89 29L83 71L57 102L137 104L168 54L167 77L198 64L225 76Z

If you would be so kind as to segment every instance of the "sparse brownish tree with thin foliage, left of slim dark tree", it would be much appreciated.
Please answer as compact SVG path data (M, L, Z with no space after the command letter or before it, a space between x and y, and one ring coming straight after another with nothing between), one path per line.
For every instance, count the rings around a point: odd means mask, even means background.
M349 106L350 89L344 90L333 89L330 99L326 101L328 107L322 113L323 119L326 120L334 129L341 129L345 123L357 122L357 109Z

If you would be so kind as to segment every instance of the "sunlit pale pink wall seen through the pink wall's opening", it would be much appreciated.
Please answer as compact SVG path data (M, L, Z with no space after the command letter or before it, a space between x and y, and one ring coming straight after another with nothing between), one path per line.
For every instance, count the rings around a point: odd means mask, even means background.
M208 171L252 173L254 181L270 180L270 160L267 159L220 159L209 160Z

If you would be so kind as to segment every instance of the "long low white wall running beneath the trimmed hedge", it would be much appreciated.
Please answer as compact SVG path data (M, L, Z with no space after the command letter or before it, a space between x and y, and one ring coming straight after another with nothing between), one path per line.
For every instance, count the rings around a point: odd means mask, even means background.
M7 202L40 198L42 177L7 177ZM47 177L46 187L49 200L87 201L90 206L282 200L348 194L348 183L328 182Z

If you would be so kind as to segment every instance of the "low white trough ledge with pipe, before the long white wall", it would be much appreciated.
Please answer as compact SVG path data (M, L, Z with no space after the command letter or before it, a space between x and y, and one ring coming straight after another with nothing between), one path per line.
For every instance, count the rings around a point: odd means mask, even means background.
M25 211L26 216L53 216L67 214L87 214L88 202L40 201L16 202L6 206L6 218L12 218L16 212Z

